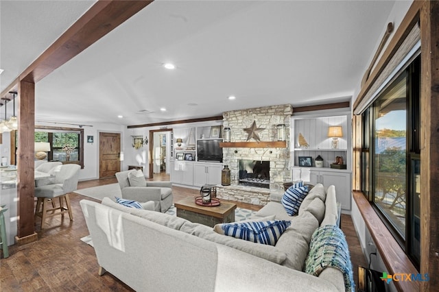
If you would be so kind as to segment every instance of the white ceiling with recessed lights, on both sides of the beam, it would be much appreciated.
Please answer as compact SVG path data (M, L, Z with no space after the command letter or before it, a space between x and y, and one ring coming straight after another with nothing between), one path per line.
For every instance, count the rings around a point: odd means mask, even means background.
M0 90L93 3L1 0ZM36 84L36 120L141 125L346 101L393 5L154 1Z

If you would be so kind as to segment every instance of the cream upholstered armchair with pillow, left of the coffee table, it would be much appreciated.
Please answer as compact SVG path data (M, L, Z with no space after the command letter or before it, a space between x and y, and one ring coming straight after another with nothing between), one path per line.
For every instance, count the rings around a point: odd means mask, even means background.
M172 206L171 182L147 182L142 171L135 169L116 173L123 199L154 201L154 210L166 212Z

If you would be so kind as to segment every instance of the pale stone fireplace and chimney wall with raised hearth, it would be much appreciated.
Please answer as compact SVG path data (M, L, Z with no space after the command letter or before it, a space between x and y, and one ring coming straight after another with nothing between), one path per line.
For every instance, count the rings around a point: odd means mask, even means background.
M250 127L254 121L258 128L263 128L258 133L261 142L277 141L276 125L285 124L287 147L224 147L223 163L230 169L230 186L218 186L217 197L263 206L268 203L270 192L283 190L283 183L292 180L292 173L289 169L291 115L292 106L289 104L224 112L223 125L230 127L230 142L246 142L249 134L244 129ZM257 141L252 138L248 142ZM249 186L240 183L242 180L240 173L244 171L239 165L240 161L242 163L244 160L255 163L263 161L264 169L268 166L268 175L265 175L268 181L264 182L263 187L261 184ZM247 170L247 173L249 172Z

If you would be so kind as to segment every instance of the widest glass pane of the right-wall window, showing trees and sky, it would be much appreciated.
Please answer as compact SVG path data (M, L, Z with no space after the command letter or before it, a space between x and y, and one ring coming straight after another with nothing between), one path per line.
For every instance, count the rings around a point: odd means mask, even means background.
M374 202L405 239L406 75L375 101Z

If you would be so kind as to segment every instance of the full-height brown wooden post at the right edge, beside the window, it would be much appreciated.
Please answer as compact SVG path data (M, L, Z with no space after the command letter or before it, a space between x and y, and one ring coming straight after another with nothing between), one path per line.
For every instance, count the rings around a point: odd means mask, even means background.
M420 10L420 291L439 291L439 1Z

